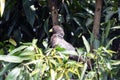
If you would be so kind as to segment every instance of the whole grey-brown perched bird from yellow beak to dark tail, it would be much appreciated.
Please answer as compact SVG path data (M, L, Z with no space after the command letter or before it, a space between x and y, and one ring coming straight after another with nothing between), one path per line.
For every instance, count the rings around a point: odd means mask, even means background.
M67 53L69 55L70 60L79 61L75 47L64 39L65 33L63 28L59 25L54 25L50 31L53 32L50 39L52 48L60 46L65 49L65 54Z

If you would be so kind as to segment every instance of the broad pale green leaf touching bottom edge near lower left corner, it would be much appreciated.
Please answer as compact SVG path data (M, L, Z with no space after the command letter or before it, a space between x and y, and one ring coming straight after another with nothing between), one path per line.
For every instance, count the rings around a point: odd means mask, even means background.
M20 68L14 68L11 72L8 73L6 80L17 80L19 74Z

